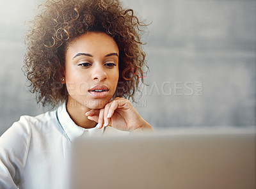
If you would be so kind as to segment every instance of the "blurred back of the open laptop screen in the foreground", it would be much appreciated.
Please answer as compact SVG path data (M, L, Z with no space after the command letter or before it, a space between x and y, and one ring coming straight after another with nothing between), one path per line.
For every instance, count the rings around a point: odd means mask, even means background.
M255 132L81 137L74 189L255 189Z

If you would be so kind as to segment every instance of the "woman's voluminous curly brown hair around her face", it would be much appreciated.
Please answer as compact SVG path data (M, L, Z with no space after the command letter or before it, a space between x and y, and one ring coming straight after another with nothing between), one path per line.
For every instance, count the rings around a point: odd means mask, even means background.
M118 0L51 0L38 8L40 14L26 35L28 50L24 57L24 72L38 103L55 107L67 101L67 87L61 83L65 53L72 40L88 32L104 32L115 40L120 76L113 98L134 100L140 79L143 82L142 68L148 66L140 39L141 27L147 25L133 10L122 8Z

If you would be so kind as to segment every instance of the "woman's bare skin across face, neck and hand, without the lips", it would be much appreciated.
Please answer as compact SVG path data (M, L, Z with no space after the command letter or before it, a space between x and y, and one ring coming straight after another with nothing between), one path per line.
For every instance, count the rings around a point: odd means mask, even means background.
M68 46L65 54L68 114L83 128L93 128L99 123L99 128L111 125L129 132L152 130L129 100L115 98L109 102L118 83L118 54L116 42L105 33L83 34ZM92 87L102 85L109 88L105 96L90 94Z

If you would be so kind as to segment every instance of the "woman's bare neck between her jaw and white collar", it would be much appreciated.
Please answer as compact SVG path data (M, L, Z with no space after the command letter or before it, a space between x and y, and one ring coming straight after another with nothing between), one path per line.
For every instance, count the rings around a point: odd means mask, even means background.
M68 98L67 112L76 125L83 128L94 128L97 125L95 121L88 119L87 116L84 115L89 110L91 109L78 103L72 98Z

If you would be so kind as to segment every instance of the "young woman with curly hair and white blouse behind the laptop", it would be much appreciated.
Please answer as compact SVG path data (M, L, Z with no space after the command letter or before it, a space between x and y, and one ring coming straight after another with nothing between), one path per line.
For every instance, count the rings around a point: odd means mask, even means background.
M147 66L133 11L118 0L52 0L41 8L24 68L38 103L58 108L21 116L1 136L0 188L65 188L77 137L152 131L127 100Z

